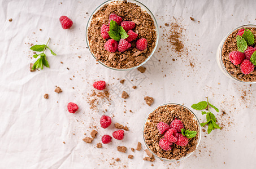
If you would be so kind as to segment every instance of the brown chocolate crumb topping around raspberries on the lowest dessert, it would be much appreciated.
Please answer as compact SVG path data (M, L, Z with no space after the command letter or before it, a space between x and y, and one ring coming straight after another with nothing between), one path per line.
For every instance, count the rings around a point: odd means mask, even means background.
M163 138L157 129L159 122L170 124L174 119L180 119L185 130L199 131L196 120L190 111L180 105L163 105L159 106L154 112L149 114L147 122L144 128L144 138L147 146L154 152L158 157L167 159L180 159L187 154L196 150L198 133L196 137L189 139L189 143L186 146L179 146L176 144L172 145L170 151L165 151L159 146L159 140Z

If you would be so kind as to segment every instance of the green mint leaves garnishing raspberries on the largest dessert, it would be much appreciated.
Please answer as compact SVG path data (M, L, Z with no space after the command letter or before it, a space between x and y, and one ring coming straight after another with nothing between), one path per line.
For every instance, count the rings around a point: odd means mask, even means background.
M120 41L120 39L128 38L128 34L125 32L122 26L119 26L116 21L111 20L109 25L109 36L110 38L114 39L115 41Z

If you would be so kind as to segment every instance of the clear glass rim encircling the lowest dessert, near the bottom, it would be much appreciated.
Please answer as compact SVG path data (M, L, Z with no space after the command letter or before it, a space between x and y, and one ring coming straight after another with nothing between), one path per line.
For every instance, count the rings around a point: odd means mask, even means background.
M182 107L185 108L185 109L188 109L189 112L194 115L193 119L197 122L197 125L198 125L198 140L197 140L197 146L196 146L196 149L197 149L197 147L198 147L198 145L199 145L199 143L200 143L200 140L201 140L201 134L202 134L202 131L201 131L201 130L202 130L202 129L201 129L200 122L199 122L199 120L198 120L196 114L194 114L194 113L192 112L192 110L190 110L190 109L187 108L186 106L181 105L181 104L177 104L177 103L166 103L166 104L159 105L159 106L157 106L156 108L154 108L153 110L151 110L150 113L154 112L154 110L157 109L158 107L164 106L164 105L179 105L179 106L182 106ZM149 114L150 114L150 113L149 113ZM147 118L149 117L149 114L147 114L147 117L146 117L146 119L145 119L144 126L143 126L143 129L142 129L142 135L143 135L143 140L144 140L144 144L146 145L146 148L147 148L147 149L150 151L150 153L152 153L155 157L161 159L162 161L177 162L177 161L182 161L183 159L188 158L190 155L192 155L192 154L196 151L196 149L195 149L193 152L190 152L189 154L187 154L187 155L184 156L184 157L181 157L181 158L178 159L178 160L176 160L176 159L167 159L167 158L158 157L157 154L155 154L154 152L152 152L152 151L150 150L149 146L146 144L146 140L145 140L145 137L144 137L144 128L145 128L145 124L146 124L146 122L147 122Z

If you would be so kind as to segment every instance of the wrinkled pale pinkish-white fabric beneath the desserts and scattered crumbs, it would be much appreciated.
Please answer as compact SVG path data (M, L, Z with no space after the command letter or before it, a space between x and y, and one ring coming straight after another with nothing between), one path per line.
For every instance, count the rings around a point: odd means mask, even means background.
M145 64L144 74L107 69L90 55L86 24L102 2L0 1L0 168L254 168L256 85L235 82L220 72L216 49L232 29L256 23L256 1L142 0L162 26L158 43L161 50ZM72 29L61 28L62 15L72 19ZM173 17L186 29L183 34L188 56L178 57L168 50L168 31L164 29L170 28L164 23L172 23ZM46 51L50 68L29 72L29 63L36 59L28 43L44 44L49 37L49 46L57 56ZM189 66L190 61L194 68ZM118 78L126 79L123 86ZM107 114L114 115L112 121L127 125L130 131L125 131L124 140L113 140L98 149L101 136L115 130L113 126L99 127L102 113L89 109L87 97L93 90L92 83L100 79L110 84L111 107L102 104L111 109ZM63 92L55 93L55 86ZM132 86L137 86L136 90ZM123 90L130 95L126 103L120 99ZM44 99L46 93L49 99ZM154 97L154 104L146 105L144 96ZM221 110L214 113L223 130L210 135L203 132L198 149L188 159L178 163L156 159L151 167L151 162L142 160L146 157L143 150L131 151L138 141L146 148L142 127L150 110L163 103L190 107L206 96ZM78 113L67 112L70 101L79 105ZM127 113L123 113L125 110ZM227 113L223 117L222 110ZM201 112L194 113L201 122L206 120ZM92 144L86 144L82 139L90 136L92 126L97 126L99 133ZM118 145L127 146L127 152L117 152ZM134 158L128 159L129 154ZM117 157L120 162L110 165Z

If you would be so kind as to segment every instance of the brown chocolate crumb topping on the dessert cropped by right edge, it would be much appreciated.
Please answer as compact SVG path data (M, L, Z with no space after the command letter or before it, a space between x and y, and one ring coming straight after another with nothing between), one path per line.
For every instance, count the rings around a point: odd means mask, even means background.
M249 29L254 34L254 39L256 38L256 28L246 28ZM236 79L239 79L240 81L244 82L254 82L256 81L256 70L254 69L253 72L250 74L244 74L240 70L240 65L234 65L229 60L229 53L233 51L238 51L237 45L236 45L236 35L237 35L238 29L232 32L228 38L225 40L224 45L222 47L222 61L229 72L233 77Z

